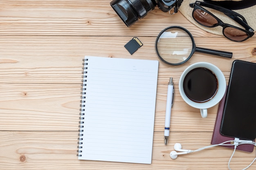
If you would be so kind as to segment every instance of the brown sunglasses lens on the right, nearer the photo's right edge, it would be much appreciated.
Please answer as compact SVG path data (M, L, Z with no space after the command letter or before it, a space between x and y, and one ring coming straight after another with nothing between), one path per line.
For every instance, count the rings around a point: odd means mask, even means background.
M236 29L233 27L227 27L223 30L223 34L229 38L230 40L234 41L243 41L248 38L248 34L240 29Z

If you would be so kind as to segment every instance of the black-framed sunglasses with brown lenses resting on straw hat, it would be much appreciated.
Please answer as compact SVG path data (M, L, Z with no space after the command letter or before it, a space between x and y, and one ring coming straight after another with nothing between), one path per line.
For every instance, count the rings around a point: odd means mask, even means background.
M229 40L235 42L242 42L254 35L254 30L252 29L252 27L247 24L245 18L239 13L215 4L211 4L209 2L195 1L195 3L189 4L189 6L194 8L192 12L192 17L196 22L198 22L198 24L209 28L222 26L222 34ZM207 11L201 6L215 9L224 13L229 18L235 20L238 24L243 26L245 29L222 22L219 18L217 18L215 15L213 15L211 12Z

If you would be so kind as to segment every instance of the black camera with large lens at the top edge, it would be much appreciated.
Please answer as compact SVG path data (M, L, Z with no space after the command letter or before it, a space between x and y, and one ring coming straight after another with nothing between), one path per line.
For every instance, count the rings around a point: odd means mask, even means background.
M156 5L164 12L174 9L174 13L177 13L182 2L183 0L112 0L110 5L129 27L138 18L144 18Z

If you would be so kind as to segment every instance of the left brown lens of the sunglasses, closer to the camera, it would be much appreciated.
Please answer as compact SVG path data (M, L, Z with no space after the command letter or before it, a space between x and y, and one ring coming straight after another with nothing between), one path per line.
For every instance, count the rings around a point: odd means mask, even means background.
M193 17L197 22L204 26L213 27L218 24L218 21L212 15L201 9L195 9Z

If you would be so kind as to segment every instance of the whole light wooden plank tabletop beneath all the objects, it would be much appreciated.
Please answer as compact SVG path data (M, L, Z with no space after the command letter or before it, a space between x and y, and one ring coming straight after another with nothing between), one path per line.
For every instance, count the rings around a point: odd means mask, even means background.
M195 150L211 143L218 105L201 118L180 96L178 82L195 62L218 66L229 80L235 59L256 62L256 36L232 42L202 31L181 13L158 8L127 28L110 0L0 1L0 169L1 170L227 170L233 150L215 147L172 160L175 143ZM195 53L189 62L170 66L155 53L155 39L167 26L188 29L197 46L233 52L232 59ZM124 45L133 37L144 44L133 55ZM78 160L76 157L81 71L84 55L159 60L152 164ZM164 145L169 77L175 101L171 132ZM236 151L231 168L240 170L255 152ZM256 169L256 163L249 170Z

